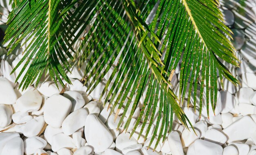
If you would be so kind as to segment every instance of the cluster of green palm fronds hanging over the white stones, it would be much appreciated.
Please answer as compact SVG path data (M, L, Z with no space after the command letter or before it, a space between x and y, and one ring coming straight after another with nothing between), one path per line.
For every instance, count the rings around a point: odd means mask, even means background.
M152 15L149 20L148 16ZM21 60L32 61L31 65L24 66L29 69L22 79L23 88L36 78L38 83L44 72L49 72L54 81L61 82L62 77L70 83L65 74L70 68L68 57L84 71L83 80L88 83L90 94L115 66L101 98L108 92L105 104L109 101L111 113L118 106L116 116L124 107L118 127L132 104L124 125L127 130L139 100L146 92L131 135L145 114L139 137L149 120L146 139L156 116L151 144L157 135L159 142L162 135L165 138L171 130L173 113L188 128L190 122L178 104L183 103L187 88L188 103L193 100L194 108L199 104L200 116L202 105L206 104L209 116L209 104L213 111L216 107L218 75L221 81L224 76L232 83L238 83L222 64L226 61L238 66L234 47L226 37L231 37L231 31L222 21L218 0L22 0L17 1L9 15L5 39L11 40L11 51L32 32L28 39L34 39ZM83 37L79 39L81 35ZM81 45L75 50L72 46L77 41ZM74 58L72 52L75 52ZM180 92L175 96L170 87L179 61ZM202 101L204 87L206 103ZM200 96L199 103L196 103L197 95ZM156 107L159 107L158 112Z

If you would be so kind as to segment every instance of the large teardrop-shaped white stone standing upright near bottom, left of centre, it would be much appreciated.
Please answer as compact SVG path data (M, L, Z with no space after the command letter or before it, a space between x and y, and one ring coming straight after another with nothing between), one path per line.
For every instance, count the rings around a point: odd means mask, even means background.
M95 152L103 152L113 142L108 128L94 114L89 114L85 121L85 139Z

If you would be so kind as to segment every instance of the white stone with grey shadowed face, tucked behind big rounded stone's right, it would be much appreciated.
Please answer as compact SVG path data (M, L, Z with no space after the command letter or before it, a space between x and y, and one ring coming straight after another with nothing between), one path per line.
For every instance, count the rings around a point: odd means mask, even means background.
M83 99L83 96L76 91L67 91L63 94L64 97L70 99L72 103L71 112L80 109L85 105L85 100Z

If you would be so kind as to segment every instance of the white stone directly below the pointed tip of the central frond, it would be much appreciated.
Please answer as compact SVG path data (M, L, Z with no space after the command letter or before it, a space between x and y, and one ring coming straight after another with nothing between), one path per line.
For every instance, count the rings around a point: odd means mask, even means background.
M196 134L191 128L189 128L189 130L184 129L181 134L181 142L184 147L189 147L193 142L195 142L195 140L199 139L201 136L200 132L197 129L195 129Z

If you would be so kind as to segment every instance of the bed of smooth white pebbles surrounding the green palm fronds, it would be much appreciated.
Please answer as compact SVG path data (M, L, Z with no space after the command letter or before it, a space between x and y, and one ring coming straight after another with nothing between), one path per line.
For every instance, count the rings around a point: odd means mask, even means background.
M4 2L0 0L3 14L0 24L6 22L11 11ZM0 155L256 155L256 2L247 0L242 6L236 0L220 0L220 5L225 24L234 32L233 43L241 61L240 68L225 65L241 85L235 87L224 80L224 90L218 89L216 116L210 111L209 119L203 107L203 117L199 120L198 111L195 114L192 107L186 108L185 100L182 109L197 135L175 117L172 131L166 135L164 143L157 144L155 151L152 149L156 139L147 149L153 127L145 142L146 129L137 139L141 124L129 139L141 104L135 110L128 132L121 133L123 125L116 129L120 117L114 122L117 108L110 114L108 104L103 106L103 101L98 100L105 81L88 96L87 87L79 81L83 73L77 68L68 74L73 85L67 85L62 95L62 88L58 90L47 78L37 88L31 85L24 91L18 90L20 80L15 83L15 79L21 67L15 74L10 75L10 72L20 61L25 47L7 57L6 45L2 45ZM172 84L177 94L179 68L175 70ZM119 111L119 116L123 110ZM126 118L130 110L131 107Z

